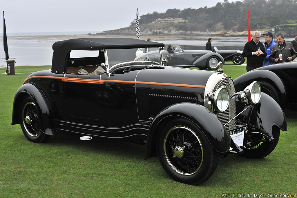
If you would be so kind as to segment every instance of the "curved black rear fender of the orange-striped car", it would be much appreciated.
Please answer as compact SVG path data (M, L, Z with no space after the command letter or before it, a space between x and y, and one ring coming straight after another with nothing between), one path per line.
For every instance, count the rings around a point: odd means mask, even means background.
M41 118L39 119L39 126L41 131L49 135L56 134L53 124L53 110L51 109L48 99L45 97L45 94L43 93L41 88L34 83L26 83L18 88L12 106L11 125L20 123L18 118L18 115L20 113L20 104L26 96L31 96L36 105L38 114L41 116Z

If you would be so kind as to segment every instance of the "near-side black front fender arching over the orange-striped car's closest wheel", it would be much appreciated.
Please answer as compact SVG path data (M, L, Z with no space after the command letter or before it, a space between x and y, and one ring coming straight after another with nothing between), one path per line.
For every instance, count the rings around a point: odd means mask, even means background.
M203 116L201 116L203 115ZM146 159L155 153L158 131L162 125L174 118L185 118L195 123L218 153L226 153L230 148L230 135L217 116L206 107L194 103L178 103L166 107L151 123L146 146ZM211 122L211 124L209 124Z

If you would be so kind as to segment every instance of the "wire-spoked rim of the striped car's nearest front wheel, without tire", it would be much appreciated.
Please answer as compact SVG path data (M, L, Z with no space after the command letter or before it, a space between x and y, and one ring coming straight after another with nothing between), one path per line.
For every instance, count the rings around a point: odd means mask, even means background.
M164 139L164 153L170 166L182 175L197 172L203 162L199 138L184 126L175 126L168 131Z

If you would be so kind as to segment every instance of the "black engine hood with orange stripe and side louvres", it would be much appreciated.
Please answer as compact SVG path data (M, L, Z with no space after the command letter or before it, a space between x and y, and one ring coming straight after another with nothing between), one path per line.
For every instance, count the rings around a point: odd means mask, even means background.
M147 122L164 108L180 102L203 105L205 85L212 74L170 66L141 70L135 84L139 120Z

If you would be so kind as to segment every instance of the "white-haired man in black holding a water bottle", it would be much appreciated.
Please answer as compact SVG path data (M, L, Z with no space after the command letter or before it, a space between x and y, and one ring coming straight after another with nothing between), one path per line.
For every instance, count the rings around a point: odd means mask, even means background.
M260 42L260 31L254 31L253 39L244 45L242 56L247 57L247 72L262 67L263 58L267 56L263 43Z

